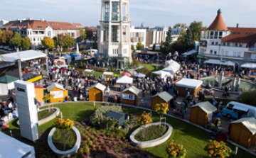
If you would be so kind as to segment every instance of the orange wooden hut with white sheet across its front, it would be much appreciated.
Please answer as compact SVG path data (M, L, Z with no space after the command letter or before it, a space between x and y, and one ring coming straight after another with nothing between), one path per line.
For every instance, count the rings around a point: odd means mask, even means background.
M48 93L53 95L50 103L62 102L68 98L68 90L65 90L62 84L53 83L47 87Z

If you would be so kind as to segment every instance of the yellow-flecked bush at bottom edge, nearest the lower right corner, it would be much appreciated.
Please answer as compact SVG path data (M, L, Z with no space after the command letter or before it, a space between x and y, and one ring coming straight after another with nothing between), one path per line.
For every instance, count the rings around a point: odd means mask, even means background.
M210 140L210 143L206 145L205 150L208 157L229 157L232 150L225 145L225 142L218 142L216 140Z

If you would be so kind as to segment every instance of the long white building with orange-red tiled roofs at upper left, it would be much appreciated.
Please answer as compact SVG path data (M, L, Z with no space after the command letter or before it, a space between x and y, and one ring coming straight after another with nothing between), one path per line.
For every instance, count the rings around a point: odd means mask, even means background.
M79 41L80 31L67 22L53 22L41 20L19 19L18 21L9 21L9 23L0 26L1 30L12 30L14 33L19 33L21 38L28 37L31 39L32 49L42 47L41 40L44 37L53 38L58 34L70 34L75 38L75 43Z

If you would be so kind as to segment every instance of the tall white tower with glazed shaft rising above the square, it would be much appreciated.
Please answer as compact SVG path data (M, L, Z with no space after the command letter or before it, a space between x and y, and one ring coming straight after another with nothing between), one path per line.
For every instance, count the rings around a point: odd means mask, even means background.
M102 0L97 61L124 69L132 62L129 0Z

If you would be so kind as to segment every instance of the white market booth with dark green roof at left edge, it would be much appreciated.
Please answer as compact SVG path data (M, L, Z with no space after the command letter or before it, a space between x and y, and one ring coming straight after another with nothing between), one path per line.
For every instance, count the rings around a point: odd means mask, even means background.
M14 89L14 81L17 81L18 78L5 75L0 78L0 94L7 95L8 91Z

